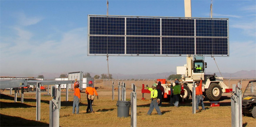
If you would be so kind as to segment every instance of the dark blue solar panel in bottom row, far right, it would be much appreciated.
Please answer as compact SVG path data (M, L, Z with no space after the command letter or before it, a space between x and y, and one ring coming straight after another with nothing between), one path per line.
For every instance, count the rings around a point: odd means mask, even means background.
M228 54L227 38L196 38L196 54Z

